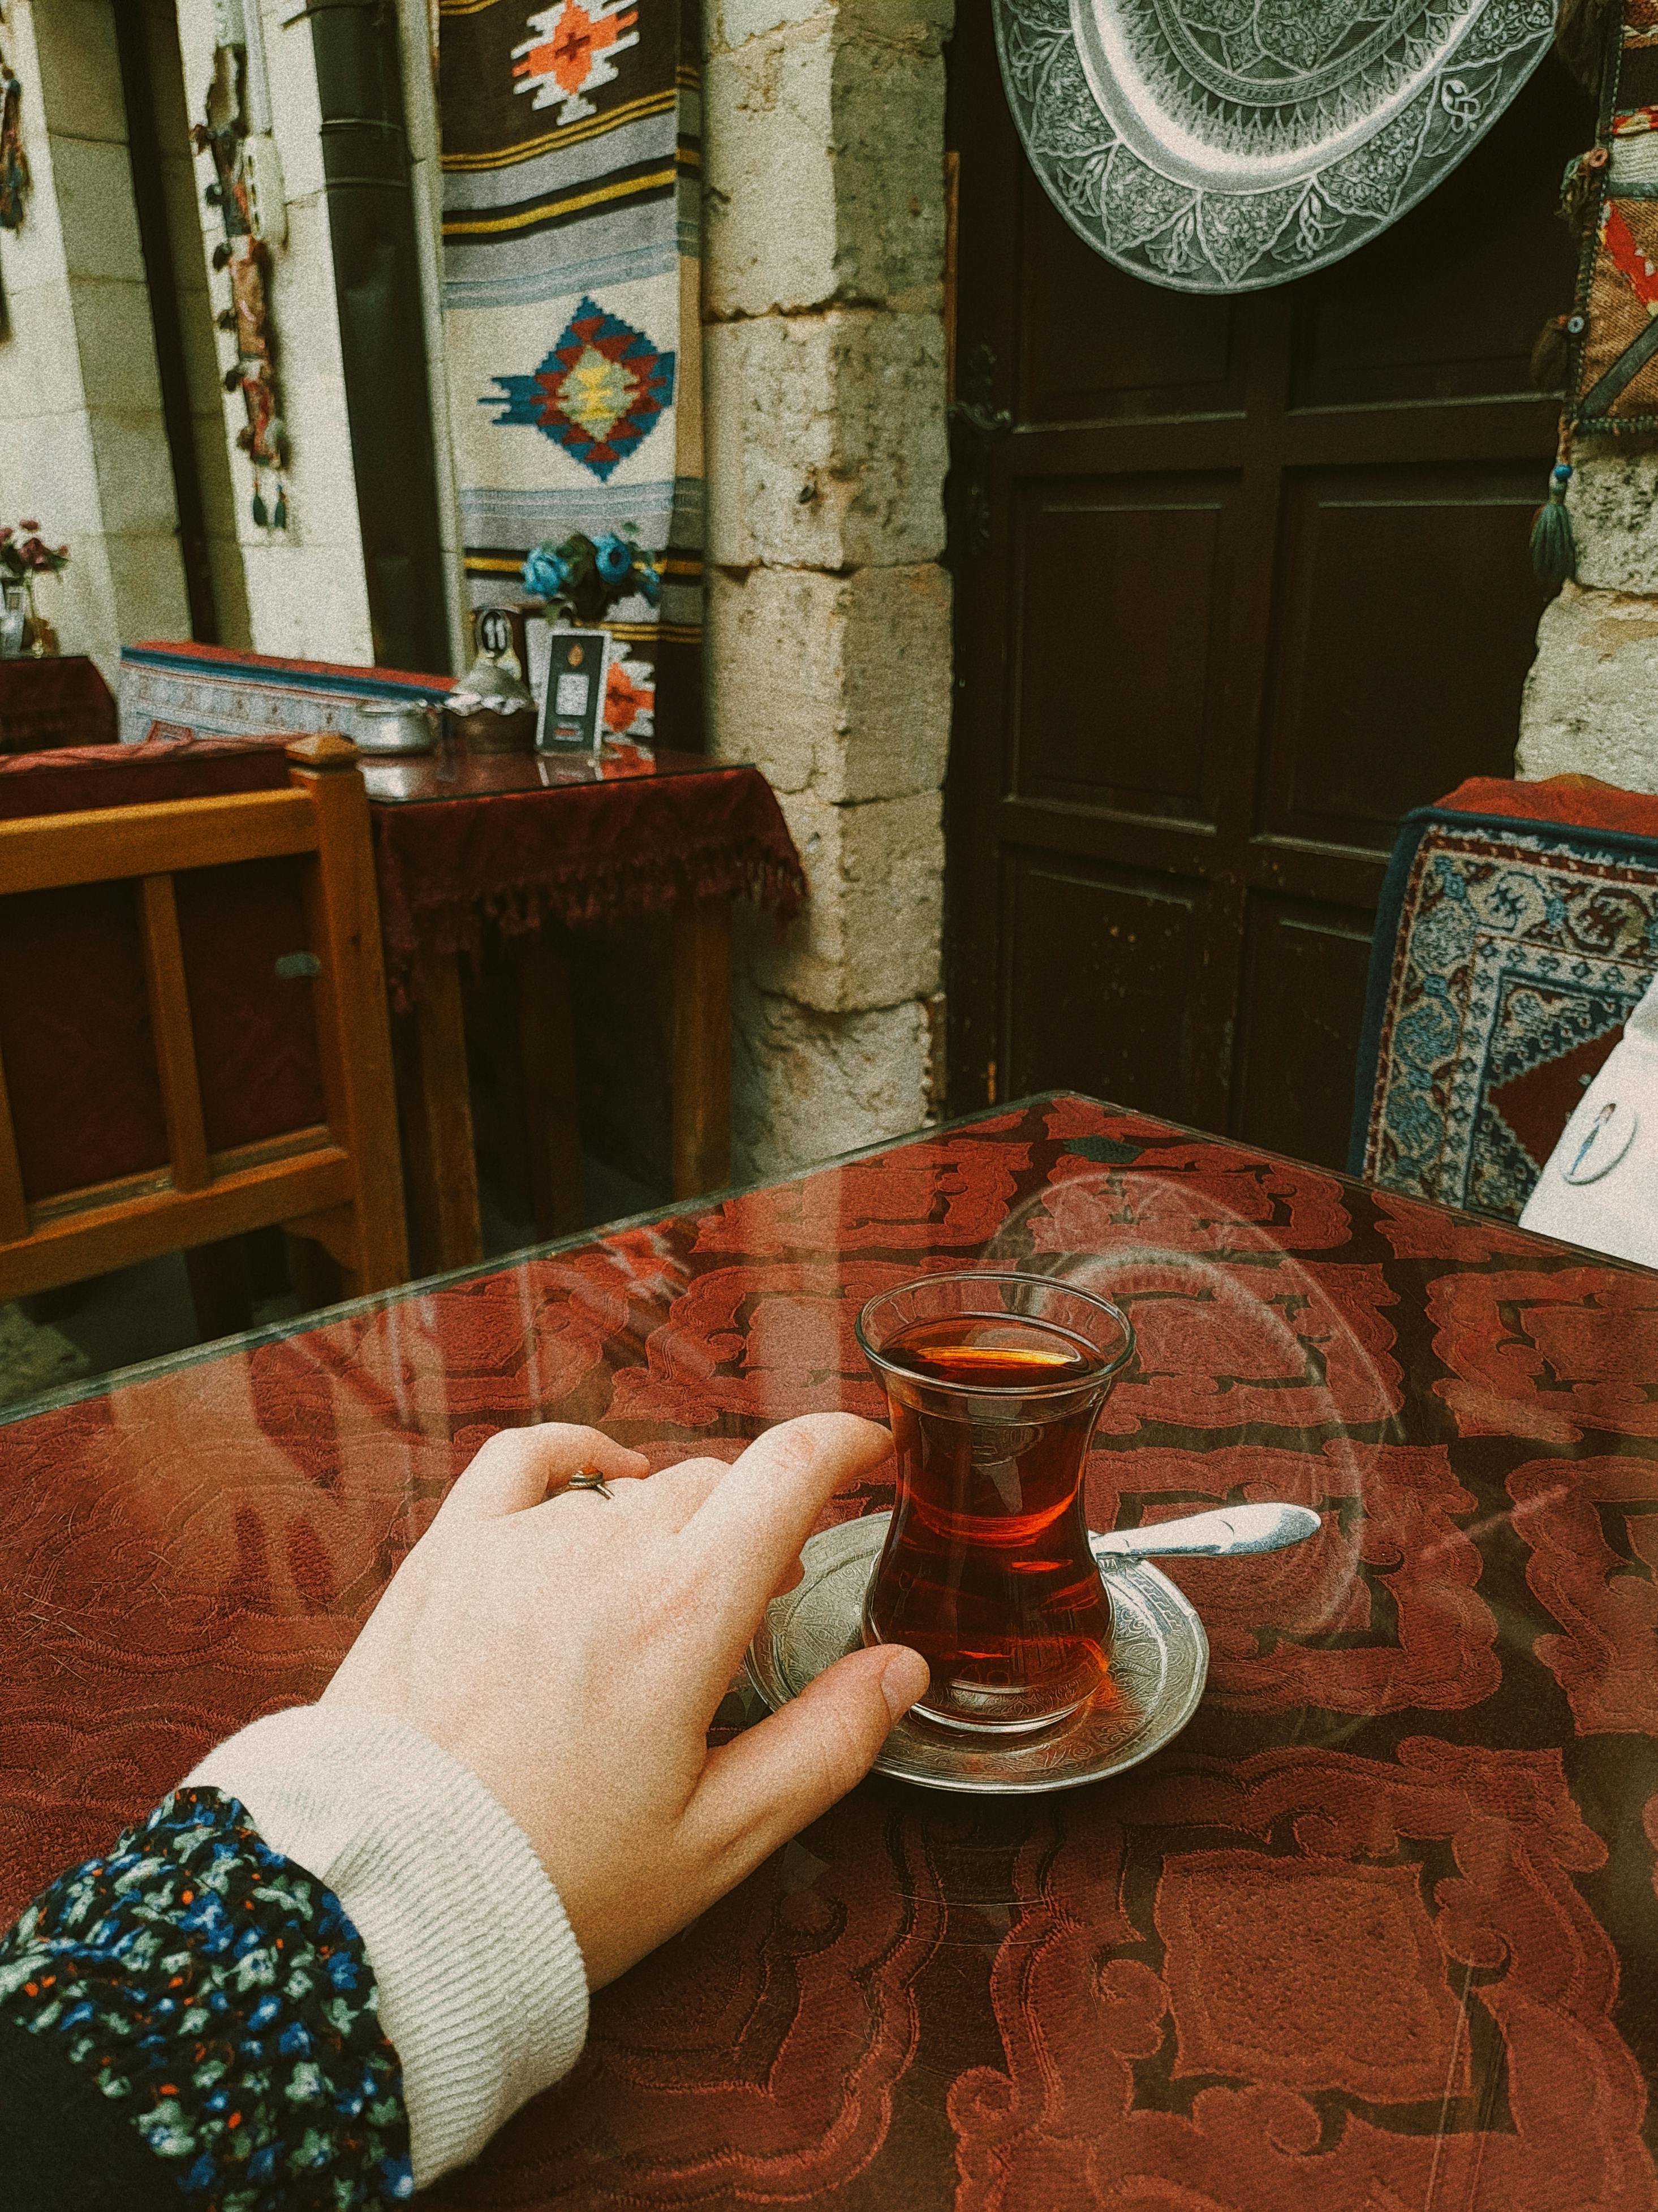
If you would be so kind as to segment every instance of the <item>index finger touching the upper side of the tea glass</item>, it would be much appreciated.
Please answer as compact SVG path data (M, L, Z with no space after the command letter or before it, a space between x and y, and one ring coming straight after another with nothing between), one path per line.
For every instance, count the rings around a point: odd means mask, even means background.
M741 1646L842 1484L873 1473L893 1440L856 1413L802 1413L767 1429L727 1469L685 1537L716 1568L721 1615Z

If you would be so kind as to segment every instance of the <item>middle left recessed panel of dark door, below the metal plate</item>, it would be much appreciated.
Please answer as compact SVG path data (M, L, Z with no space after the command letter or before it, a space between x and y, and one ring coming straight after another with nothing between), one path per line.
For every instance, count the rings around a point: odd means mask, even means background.
M1225 487L1035 484L1021 515L1015 790L1207 818ZM1079 619L1085 580L1092 617ZM1172 635L1169 619L1178 619ZM1158 650L1147 650L1154 644ZM1156 730L1156 745L1145 732Z

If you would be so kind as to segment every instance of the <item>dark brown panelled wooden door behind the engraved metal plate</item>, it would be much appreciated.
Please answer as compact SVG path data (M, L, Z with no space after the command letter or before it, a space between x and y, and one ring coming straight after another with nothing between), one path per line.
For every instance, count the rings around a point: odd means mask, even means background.
M1550 60L1360 254L1194 299L1063 223L964 7L957 387L1010 427L977 529L953 482L957 1110L1074 1086L1344 1159L1395 825L1512 772L1556 429L1528 356L1589 133Z

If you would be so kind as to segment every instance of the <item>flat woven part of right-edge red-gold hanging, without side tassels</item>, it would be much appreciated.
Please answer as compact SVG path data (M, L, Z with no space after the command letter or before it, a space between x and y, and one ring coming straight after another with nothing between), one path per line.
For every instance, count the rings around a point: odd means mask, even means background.
M1567 422L1658 434L1658 7L1623 0L1596 133L1598 206L1583 241ZM1572 325L1567 325L1572 330Z

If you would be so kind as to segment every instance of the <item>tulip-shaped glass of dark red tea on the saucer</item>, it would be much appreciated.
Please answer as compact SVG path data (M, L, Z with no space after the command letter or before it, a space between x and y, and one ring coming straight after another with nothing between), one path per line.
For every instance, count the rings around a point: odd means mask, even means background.
M1024 1732L1105 1681L1112 1608L1083 1458L1134 1349L1127 1316L1039 1274L935 1274L871 1298L858 1343L886 1385L898 1502L867 1644L933 1670L915 1712Z

